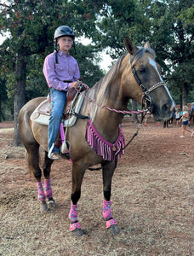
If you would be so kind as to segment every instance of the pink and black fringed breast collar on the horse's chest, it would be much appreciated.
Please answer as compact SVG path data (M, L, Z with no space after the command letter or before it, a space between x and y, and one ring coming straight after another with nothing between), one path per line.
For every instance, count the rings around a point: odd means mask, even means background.
M104 160L112 161L118 154L119 158L124 154L125 141L123 131L118 126L119 134L115 143L111 144L100 136L99 132L95 130L91 120L88 119L88 125L86 130L86 141L88 145L94 149L96 154L102 156Z

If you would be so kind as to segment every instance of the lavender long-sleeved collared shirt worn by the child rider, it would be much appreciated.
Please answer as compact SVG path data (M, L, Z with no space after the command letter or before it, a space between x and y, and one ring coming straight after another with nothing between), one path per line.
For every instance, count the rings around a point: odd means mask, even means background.
M65 55L60 50L58 61L59 64L55 62L55 52L46 56L43 63L43 74L48 87L67 91L71 88L71 83L63 81L77 81L80 78L79 67L76 59L71 55Z

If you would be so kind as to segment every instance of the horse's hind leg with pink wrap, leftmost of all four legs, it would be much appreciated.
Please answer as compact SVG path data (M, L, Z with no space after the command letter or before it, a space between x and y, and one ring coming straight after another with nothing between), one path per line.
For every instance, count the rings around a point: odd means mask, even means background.
M37 142L25 144L27 150L27 161L30 172L33 172L34 177L37 179L37 197L41 202L40 210L46 212L48 207L46 203L46 195L44 194L43 184L41 182L42 172L39 167L39 144Z

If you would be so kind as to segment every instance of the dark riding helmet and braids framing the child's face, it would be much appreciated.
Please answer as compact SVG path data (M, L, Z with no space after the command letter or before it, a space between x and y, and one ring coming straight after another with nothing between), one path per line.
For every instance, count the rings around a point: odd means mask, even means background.
M56 52L56 55L55 55L56 63L59 63L58 62L58 57L57 57L57 53L58 53L57 39L60 38L60 37L64 37L64 36L68 36L68 37L71 37L73 39L73 48L75 50L75 54L77 54L76 46L75 46L75 42L74 42L74 39L75 39L74 32L71 30L71 28L69 26L59 26L54 32L54 49L55 49L55 52Z

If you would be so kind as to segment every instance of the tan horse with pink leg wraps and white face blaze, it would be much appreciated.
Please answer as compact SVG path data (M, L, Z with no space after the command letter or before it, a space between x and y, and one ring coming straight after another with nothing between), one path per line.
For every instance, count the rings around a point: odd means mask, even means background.
M71 156L71 208L70 230L74 236L82 236L78 221L77 202L81 197L84 173L89 167L100 165L103 180L103 210L106 228L118 234L120 228L111 214L111 179L117 167L117 158L123 154L124 135L120 128L129 99L149 108L155 120L168 120L172 116L174 100L161 77L161 67L155 61L155 52L150 43L135 46L125 38L126 53L120 56L108 73L82 93L80 110L86 119L78 118L75 125L68 127L66 138ZM19 114L20 137L27 152L28 166L37 181L40 208L48 211L55 206L50 171L54 160L48 158L48 127L31 121L30 116L44 97L27 102ZM45 152L42 171L39 167L39 147ZM97 147L97 148L96 148ZM99 147L99 148L98 148ZM66 158L66 155L64 155ZM66 158L67 160L67 158ZM48 199L48 203L46 201Z

